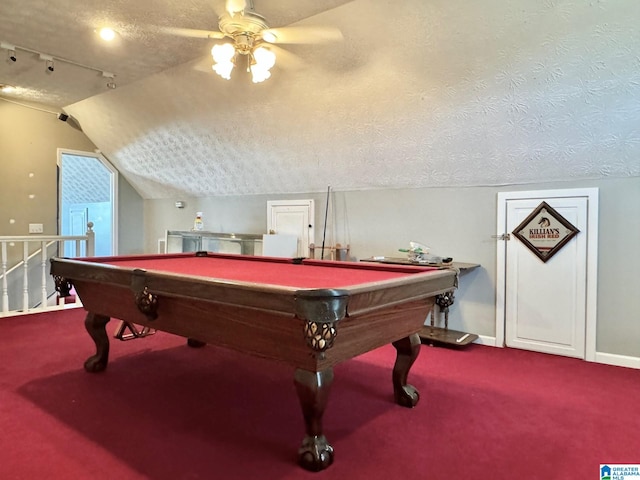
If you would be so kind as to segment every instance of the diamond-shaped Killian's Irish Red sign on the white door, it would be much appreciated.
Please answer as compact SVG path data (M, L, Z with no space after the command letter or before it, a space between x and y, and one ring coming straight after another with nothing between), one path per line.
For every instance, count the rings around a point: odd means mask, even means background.
M516 227L513 234L540 260L546 262L579 232L566 218L542 202Z

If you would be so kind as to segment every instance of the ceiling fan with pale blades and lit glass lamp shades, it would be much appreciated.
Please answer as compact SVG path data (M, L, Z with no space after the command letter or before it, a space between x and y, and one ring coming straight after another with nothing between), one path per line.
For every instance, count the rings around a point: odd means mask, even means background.
M169 27L164 31L186 37L231 40L231 43L216 44L211 49L215 62L212 69L229 80L234 66L246 58L247 71L252 74L254 83L271 76L276 54L291 59L292 54L276 44L327 43L343 38L342 32L333 27L270 28L266 19L255 11L253 0L226 0L226 10L218 18L218 28L195 30Z

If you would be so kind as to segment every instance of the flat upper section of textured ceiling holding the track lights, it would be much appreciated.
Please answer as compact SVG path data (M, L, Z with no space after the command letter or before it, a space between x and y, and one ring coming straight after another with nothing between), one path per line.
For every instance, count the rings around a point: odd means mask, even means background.
M347 0L258 1L270 26L297 22ZM101 72L116 75L121 87L151 74L203 58L211 42L164 32L165 27L217 30L225 0L2 0L0 41L23 47L16 62L0 62L0 83L18 87L14 97L63 107L107 91ZM118 32L112 43L97 30ZM55 62L50 73L33 51L73 63ZM78 67L75 64L90 68Z

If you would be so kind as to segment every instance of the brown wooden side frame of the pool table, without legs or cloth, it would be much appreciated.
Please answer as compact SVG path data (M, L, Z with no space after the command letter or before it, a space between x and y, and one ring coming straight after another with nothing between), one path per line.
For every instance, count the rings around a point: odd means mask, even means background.
M453 286L454 273L429 272L425 290L420 274L409 283L371 282L350 289L295 289L200 276L182 276L114 267L73 259L52 259L51 273L70 281L93 314L216 344L296 368L319 371L419 331L436 294ZM82 273L78 268L82 267ZM304 267L301 267L304 268ZM185 281L188 280L188 281ZM103 288L103 285L110 288ZM381 288L385 287L385 288ZM157 296L157 314L136 308L143 289ZM171 299L171 301L167 301ZM402 304L402 308L394 308ZM412 306L412 304L415 304ZM330 352L302 341L303 322L336 322ZM296 321L297 320L297 321ZM377 335L364 335L373 330ZM329 354L330 353L330 354Z

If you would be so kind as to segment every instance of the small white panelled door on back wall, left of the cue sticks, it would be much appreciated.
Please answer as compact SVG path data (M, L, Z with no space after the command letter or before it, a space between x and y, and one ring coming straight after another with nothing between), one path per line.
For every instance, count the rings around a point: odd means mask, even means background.
M267 202L267 231L298 238L298 257L309 256L314 242L313 200L274 200Z

